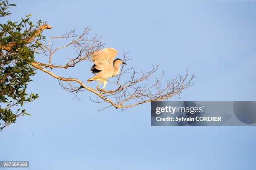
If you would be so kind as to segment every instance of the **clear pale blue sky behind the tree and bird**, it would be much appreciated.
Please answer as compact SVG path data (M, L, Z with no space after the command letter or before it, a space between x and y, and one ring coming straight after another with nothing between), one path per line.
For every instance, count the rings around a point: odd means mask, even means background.
M195 72L195 84L179 100L256 100L255 1L11 2L17 7L1 23L31 13L33 21L52 26L44 32L47 37L89 26L91 35L102 35L105 47L117 49L119 56L130 52L128 65L137 70L160 64L164 80L186 69ZM72 52L58 52L53 61ZM86 81L90 67L84 62L54 72ZM39 98L26 105L30 117L20 117L0 133L0 160L28 160L31 170L256 168L254 126L151 127L150 103L97 112L104 106L89 100L92 93L73 100L40 71L29 90Z

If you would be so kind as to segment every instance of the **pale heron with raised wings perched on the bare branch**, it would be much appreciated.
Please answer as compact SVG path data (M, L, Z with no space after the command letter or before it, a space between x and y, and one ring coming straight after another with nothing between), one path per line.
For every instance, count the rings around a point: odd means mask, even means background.
M109 77L114 77L118 75L120 72L120 64L126 64L120 58L114 60L117 55L117 50L114 48L104 48L95 52L92 56L92 61L94 65L91 68L91 71L95 76L91 77L87 80L87 82L91 81L100 81L97 87L103 83L103 89L107 84L107 80Z

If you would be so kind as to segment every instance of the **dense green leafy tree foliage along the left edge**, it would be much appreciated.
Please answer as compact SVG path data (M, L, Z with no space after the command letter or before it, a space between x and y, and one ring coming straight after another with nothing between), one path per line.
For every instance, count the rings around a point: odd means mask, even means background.
M10 15L7 11L7 0L0 0L0 16ZM31 102L38 94L27 92L28 82L36 74L30 65L34 61L35 49L40 47L35 40L44 40L44 36L36 34L37 29L44 24L38 21L34 25L30 21L30 15L21 18L20 22L8 20L0 24L0 130L16 121L21 115L29 115L25 109L21 109L24 103Z

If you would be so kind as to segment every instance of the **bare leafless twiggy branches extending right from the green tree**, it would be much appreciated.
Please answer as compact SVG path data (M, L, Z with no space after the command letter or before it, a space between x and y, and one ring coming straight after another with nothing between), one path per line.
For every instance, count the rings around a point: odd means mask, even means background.
M195 78L195 74L192 74L191 77L188 77L188 71L183 76L179 75L179 77L167 81L165 87L162 87L161 83L164 71L162 71L162 75L159 78L154 77L154 82L150 81L150 77L154 73L156 73L156 71L159 68L159 65L153 65L151 70L148 72L137 72L133 67L124 69L122 65L120 73L117 76L115 76L116 80L108 80L108 82L117 85L116 89L114 90L103 90L99 87L96 87L96 89L91 88L85 85L81 80L77 78L59 77L58 75L55 75L53 72L46 70L46 68L43 68L50 67L51 69L53 69L59 67L67 69L68 67L74 67L77 63L82 62L83 60L92 62L92 55L98 50L102 49L104 44L96 36L89 39L89 30L89 28L86 28L80 36L77 36L76 34L74 34L74 31L71 31L59 37L52 37L50 39L50 42L47 45L43 45L44 48L41 49L44 51L44 53L47 53L47 56L49 57L49 63L45 64L41 62L33 62L33 67L36 67L39 70L42 70L47 74L53 76L54 78L58 79L59 85L61 85L61 87L64 90L67 90L68 92L74 94L74 97L77 97L78 99L78 92L88 90L97 96L96 100L92 100L92 98L90 97L90 100L92 102L110 103L111 106L114 106L115 108L121 108L122 110L146 102L168 100L174 95L180 96L183 89L186 89L193 85L192 80ZM74 39L75 37L76 39ZM72 38L72 41L70 41L67 45L53 49L51 45L52 40L60 38L67 40ZM69 45L74 46L74 50L77 56L70 57L69 61L64 65L51 64L51 57L54 54L54 52L56 52L56 50L63 49ZM127 57L127 54L127 52L123 52L124 62L128 62L129 60L131 60L131 58ZM104 107L103 109L108 107L110 106Z

